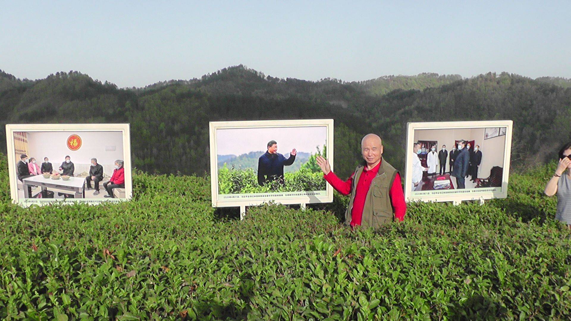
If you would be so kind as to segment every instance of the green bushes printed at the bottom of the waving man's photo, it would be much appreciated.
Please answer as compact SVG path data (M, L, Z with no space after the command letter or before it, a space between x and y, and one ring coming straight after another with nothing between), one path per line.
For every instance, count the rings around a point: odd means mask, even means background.
M273 180L264 186L260 186L258 174L252 168L236 169L224 166L218 169L218 190L220 194L324 191L326 184L323 172L312 171L309 168L286 172L284 182L286 184Z

